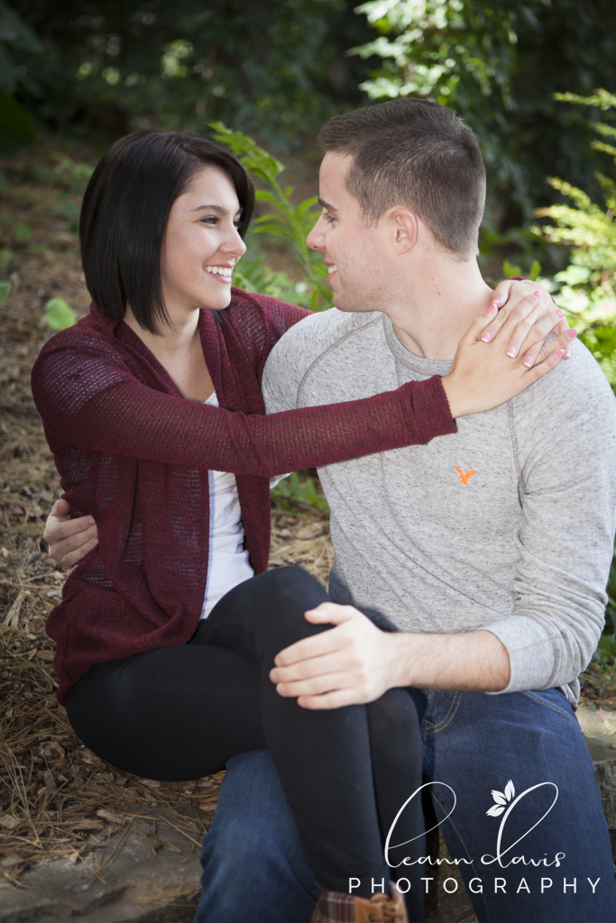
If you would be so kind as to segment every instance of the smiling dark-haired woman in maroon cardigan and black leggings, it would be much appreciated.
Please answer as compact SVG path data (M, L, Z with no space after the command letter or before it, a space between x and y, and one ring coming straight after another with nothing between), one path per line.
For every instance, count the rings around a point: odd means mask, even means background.
M453 416L524 390L570 341L544 348L531 370L490 347L477 371L469 347L484 315L442 381L264 417L265 360L306 312L230 292L253 198L232 155L175 134L123 138L92 175L79 233L96 304L43 347L32 373L66 496L99 529L48 621L59 699L91 749L153 778L201 776L267 746L308 861L340 893L344 918L369 903L404 919L399 894L368 902L371 878L389 877L368 725L405 725L417 756L417 719L396 690L320 714L276 693L274 655L320 630L303 616L327 595L300 569L262 572L268 478L453 432ZM536 331L534 356L557 319ZM511 332L508 320L496 342ZM491 400L469 400L486 369L501 369ZM417 835L409 821L404 838ZM358 897L343 893L350 876L362 880Z

